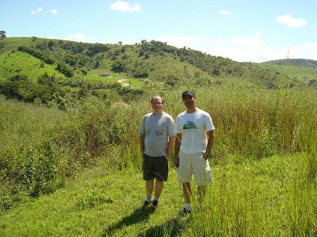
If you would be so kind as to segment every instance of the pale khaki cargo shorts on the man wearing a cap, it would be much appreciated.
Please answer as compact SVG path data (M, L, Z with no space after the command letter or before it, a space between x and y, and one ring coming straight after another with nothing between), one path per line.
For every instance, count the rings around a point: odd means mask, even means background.
M203 158L202 153L186 154L180 151L177 173L179 183L190 183L193 175L198 186L212 181L209 162Z

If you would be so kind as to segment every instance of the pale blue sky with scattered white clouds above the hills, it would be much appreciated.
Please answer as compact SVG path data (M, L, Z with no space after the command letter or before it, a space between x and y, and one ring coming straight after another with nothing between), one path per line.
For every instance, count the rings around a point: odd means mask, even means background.
M236 61L317 60L316 0L0 0L7 37L159 40Z

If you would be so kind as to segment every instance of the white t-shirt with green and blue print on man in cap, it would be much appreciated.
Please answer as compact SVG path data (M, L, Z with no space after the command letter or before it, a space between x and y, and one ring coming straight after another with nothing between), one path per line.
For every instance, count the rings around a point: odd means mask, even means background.
M186 111L176 117L174 133L182 134L180 150L186 154L205 152L206 132L214 130L210 115L200 109L188 114ZM176 138L177 139L177 138Z

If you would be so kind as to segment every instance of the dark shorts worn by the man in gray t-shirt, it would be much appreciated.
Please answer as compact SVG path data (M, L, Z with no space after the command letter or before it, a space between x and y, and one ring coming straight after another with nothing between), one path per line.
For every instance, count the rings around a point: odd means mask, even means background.
M143 179L151 180L157 178L161 181L167 181L168 160L165 156L150 157L143 154Z

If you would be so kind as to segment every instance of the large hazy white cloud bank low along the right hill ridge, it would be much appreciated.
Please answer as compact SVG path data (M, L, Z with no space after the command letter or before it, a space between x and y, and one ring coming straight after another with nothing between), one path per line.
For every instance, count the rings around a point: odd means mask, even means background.
M201 38L196 36L159 36L155 40L181 48L183 46L207 52L211 55L230 58L239 62L265 62L287 57L317 60L317 43L307 42L302 45L275 47L262 41L262 33L253 36L235 36L231 39Z

